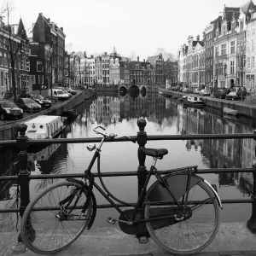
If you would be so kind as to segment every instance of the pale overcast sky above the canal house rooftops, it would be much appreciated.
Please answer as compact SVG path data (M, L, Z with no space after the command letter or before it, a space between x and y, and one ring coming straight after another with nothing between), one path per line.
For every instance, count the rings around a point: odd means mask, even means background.
M0 0L0 2L6 0ZM205 26L222 15L224 4L240 7L241 0L13 0L10 23L20 17L26 29L43 13L62 26L72 51L88 55L112 52L147 59L156 49L177 55L191 34L202 34Z

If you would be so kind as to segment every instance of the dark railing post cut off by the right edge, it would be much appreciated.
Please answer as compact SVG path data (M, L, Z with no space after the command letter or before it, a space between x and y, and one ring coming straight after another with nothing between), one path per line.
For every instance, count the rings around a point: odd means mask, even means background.
M256 130L253 131L253 134L256 136ZM256 141L256 138L254 138ZM256 146L254 148L256 155ZM251 230L251 232L256 233L256 163L253 164L253 191L251 192L252 202L252 216L247 221L247 228Z

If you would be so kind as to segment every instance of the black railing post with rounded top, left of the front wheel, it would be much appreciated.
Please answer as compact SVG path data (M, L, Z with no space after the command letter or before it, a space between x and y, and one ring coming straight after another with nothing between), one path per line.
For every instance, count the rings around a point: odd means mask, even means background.
M22 218L23 213L25 212L26 206L29 204L30 195L29 195L29 175L30 172L27 171L27 137L26 134L27 125L20 124L18 126L19 135L16 140L17 148L20 148L19 153L19 162L20 170L18 173L18 185L20 186L20 217ZM21 241L19 235L18 241Z

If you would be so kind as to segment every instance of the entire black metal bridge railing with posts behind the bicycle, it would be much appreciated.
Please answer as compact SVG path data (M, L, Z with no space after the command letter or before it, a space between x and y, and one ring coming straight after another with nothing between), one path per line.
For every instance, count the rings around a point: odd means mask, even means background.
M138 156L138 167L137 171L131 172L102 172L102 177L123 177L123 176L137 176L137 187L138 195L143 189L143 184L146 180L148 171L145 166L146 155L143 154L141 149L145 148L145 145L148 141L160 141L160 140L195 140L195 139L253 139L256 140L256 131L253 131L251 134L198 134L198 135L158 135L158 136L148 136L145 131L146 120L138 119L137 125L139 131L137 131L137 136L131 137L135 139L138 144L137 156ZM20 148L19 153L19 172L15 176L2 176L0 181L16 181L20 187L20 207L17 208L0 208L0 213L2 212L19 212L20 217L22 217L23 212L26 209L30 201L30 180L32 179L48 179L48 178L67 178L67 177L83 177L83 173L73 173L73 174L47 174L47 175L31 175L30 171L27 170L27 146L31 145L45 145L53 143L97 143L101 141L99 137L91 138L57 138L57 139L44 139L44 140L32 140L26 137L26 125L19 125L19 136L16 140L10 141L0 141L1 146L16 146ZM116 138L116 139L106 139L108 143L114 142L126 142L130 141L127 138ZM255 148L256 149L256 148ZM161 174L170 173L173 170L160 171ZM251 168L211 168L211 169L198 169L197 174L204 173L226 173L226 172L252 172L253 173L253 191L251 192L251 199L241 200L227 200L222 199L224 204L232 203L251 203L252 204L252 215L251 218L247 221L247 227L253 232L256 233L256 166L252 165ZM97 177L97 173L94 173ZM134 203L135 204L135 203ZM120 206L120 205L119 205ZM112 207L108 204L98 205L98 208L108 208Z

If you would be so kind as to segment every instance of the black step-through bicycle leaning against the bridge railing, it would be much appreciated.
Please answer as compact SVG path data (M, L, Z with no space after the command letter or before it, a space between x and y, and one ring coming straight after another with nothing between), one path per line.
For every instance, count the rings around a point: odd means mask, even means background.
M106 138L113 139L117 135L106 133L102 126L93 131L100 134L102 140L98 147L87 146L88 150L96 149L96 152L84 177L51 184L26 207L20 235L27 248L34 253L57 253L78 239L85 229L90 230L96 217L94 188L120 213L119 219L109 217L108 223L118 222L126 234L149 234L158 246L180 255L197 253L210 244L218 232L222 205L212 185L196 175L197 166L178 168L161 176L155 164L168 150L139 148L143 154L153 157L152 166L137 203L121 201L108 191L100 170L102 144ZM136 143L131 137L126 138ZM96 159L102 188L90 172ZM153 174L156 181L147 190ZM130 208L123 211L115 201Z

